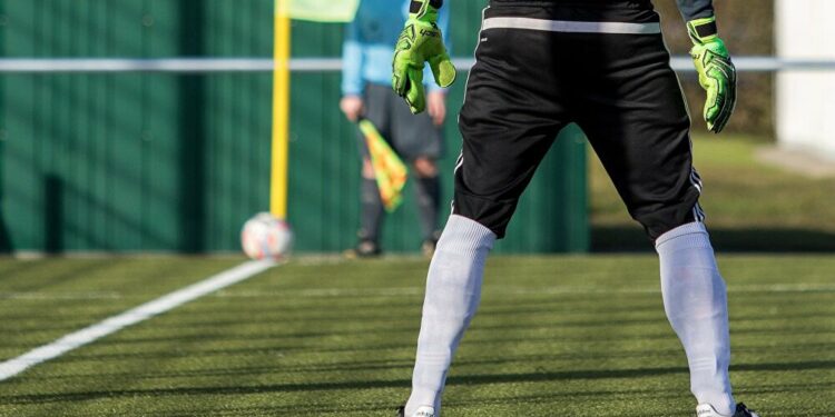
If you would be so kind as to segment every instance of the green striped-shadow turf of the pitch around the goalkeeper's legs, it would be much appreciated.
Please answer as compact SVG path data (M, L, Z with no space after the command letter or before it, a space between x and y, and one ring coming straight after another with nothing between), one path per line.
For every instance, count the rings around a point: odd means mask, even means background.
M237 265L0 260L0 359ZM835 416L835 257L721 256L737 398ZM652 255L494 257L444 416L691 416ZM295 258L0 383L0 416L393 416L426 260Z

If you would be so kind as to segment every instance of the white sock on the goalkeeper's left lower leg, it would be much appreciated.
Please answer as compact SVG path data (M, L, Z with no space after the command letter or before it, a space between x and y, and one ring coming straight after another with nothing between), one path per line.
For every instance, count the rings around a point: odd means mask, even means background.
M481 299L484 262L495 241L487 227L450 216L438 241L426 278L423 319L406 416L420 406L440 415L446 371Z

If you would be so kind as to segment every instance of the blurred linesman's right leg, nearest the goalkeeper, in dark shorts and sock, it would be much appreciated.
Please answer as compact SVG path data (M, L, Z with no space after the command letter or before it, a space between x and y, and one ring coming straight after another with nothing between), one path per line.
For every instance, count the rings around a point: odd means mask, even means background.
M438 241L441 179L436 160L442 156L443 136L428 113L412 115L409 106L389 89L396 103L392 109L392 143L412 165L415 201L424 252L431 255Z

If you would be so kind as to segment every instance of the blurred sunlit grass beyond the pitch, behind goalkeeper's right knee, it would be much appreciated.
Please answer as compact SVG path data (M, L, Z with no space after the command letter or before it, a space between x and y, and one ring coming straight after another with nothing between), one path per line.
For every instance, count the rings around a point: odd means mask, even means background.
M718 250L835 251L835 179L809 179L755 160L756 138L694 139L705 183L701 205ZM591 168L593 247L647 249L644 231L626 212L596 157Z

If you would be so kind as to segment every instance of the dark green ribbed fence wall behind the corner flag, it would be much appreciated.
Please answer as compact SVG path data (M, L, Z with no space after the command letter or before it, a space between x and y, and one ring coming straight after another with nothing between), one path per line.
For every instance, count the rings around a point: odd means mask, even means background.
M481 2L453 7L456 56ZM294 57L337 57L342 26L294 23ZM271 0L0 0L4 58L269 57ZM463 77L462 77L463 79ZM340 75L294 73L289 220L299 251L351 246L358 218L354 128ZM444 199L460 149L451 90ZM265 72L0 76L0 250L226 251L268 206L272 77ZM588 247L584 141L563 132L510 226L504 251ZM419 247L411 187L384 246Z

